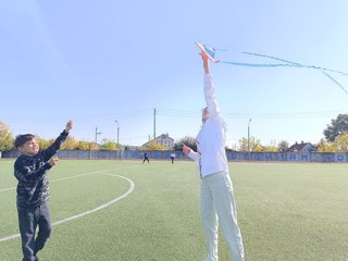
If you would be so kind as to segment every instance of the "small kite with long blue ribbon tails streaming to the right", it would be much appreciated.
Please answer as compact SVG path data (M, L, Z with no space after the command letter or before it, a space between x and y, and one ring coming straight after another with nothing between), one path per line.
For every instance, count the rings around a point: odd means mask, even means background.
M209 60L212 61L213 63L226 63L226 64L232 64L232 65L236 65L236 66L250 66L250 67L299 67L299 69L313 69L313 70L319 70L321 73L323 73L327 78L330 78L333 83L335 83L343 91L346 92L346 95L348 95L347 89L338 82L336 80L331 74L328 73L336 73L336 74L340 74L344 76L348 76L347 73L340 72L340 71L335 71L335 70L331 70L331 69L326 69L326 67L320 67L320 66L315 66L315 65L307 65L307 64L301 64L301 63L297 63L297 62L291 62L288 60L284 60L281 58L276 58L276 57L271 57L271 55L266 55L266 54L260 54L260 53L253 53L253 52L243 52L243 54L246 55L253 55L253 57L259 57L259 58L266 58L266 59L271 59L281 63L241 63L241 62L227 62L227 61L220 61L215 59L215 52L217 50L222 50L222 49L216 49L216 48L212 48L212 47L208 47L206 45L199 44L199 42L195 42L197 45L197 47L200 49L201 52L204 52ZM226 50L223 50L226 51Z

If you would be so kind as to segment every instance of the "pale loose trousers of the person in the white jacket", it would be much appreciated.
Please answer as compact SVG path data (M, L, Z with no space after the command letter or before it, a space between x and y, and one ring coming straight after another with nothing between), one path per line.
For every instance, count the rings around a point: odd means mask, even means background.
M237 223L236 203L228 173L217 172L201 179L202 225L208 246L207 261L217 261L219 223L229 246L232 261L244 261L244 247Z

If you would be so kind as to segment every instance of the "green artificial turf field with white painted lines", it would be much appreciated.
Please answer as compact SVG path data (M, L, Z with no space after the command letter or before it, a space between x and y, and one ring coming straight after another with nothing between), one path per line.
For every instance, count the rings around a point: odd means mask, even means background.
M0 161L1 261L22 257L13 162ZM61 160L52 167L53 232L40 260L204 260L194 162L141 162ZM347 261L347 170L231 163L246 261ZM219 252L228 260L222 234Z

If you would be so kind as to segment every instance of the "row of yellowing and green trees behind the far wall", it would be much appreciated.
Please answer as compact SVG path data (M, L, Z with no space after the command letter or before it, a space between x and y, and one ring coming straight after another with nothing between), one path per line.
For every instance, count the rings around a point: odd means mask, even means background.
M323 130L324 137L315 146L318 152L348 152L348 114L338 114L336 119L333 119L326 128ZM10 127L2 121L0 121L0 151L14 149L13 141L14 136ZM44 139L37 135L40 148L45 149L51 145L54 139ZM174 150L181 150L183 145L187 145L194 150L197 150L196 140L194 137L186 136L175 141ZM254 151L254 152L277 152L286 151L289 148L289 144L286 140L281 140L278 144L275 141L271 145L264 146L260 139L251 137L250 140L243 137L239 139L236 148L226 148L236 151ZM61 147L62 150L129 150L132 149L127 145L116 144L112 139L103 139L100 144L92 141L77 140L73 136L69 136L65 142ZM139 150L166 150L166 148L158 144L156 140L148 142L146 147L138 147Z

